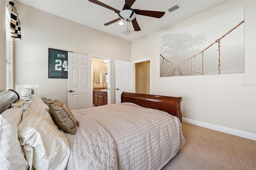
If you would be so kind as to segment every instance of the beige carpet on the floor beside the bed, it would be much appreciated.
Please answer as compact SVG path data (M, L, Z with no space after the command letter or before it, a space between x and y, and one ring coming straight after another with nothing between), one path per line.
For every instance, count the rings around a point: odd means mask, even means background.
M182 123L186 144L162 170L256 170L256 140Z

